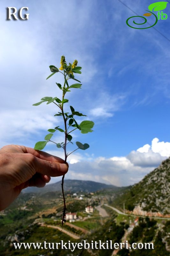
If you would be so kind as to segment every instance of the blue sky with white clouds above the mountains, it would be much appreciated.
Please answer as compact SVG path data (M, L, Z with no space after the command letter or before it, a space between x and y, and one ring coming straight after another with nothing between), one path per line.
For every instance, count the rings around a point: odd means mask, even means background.
M139 15L153 3L121 1ZM6 20L9 6L28 7L29 19ZM163 11L168 18L153 28L133 29L126 20L135 14L119 0L1 0L0 147L33 148L48 129L63 128L54 116L57 106L32 105L45 96L61 97L55 83L62 84L62 76L46 78L49 65L59 68L65 55L67 63L77 59L82 67L76 76L82 89L68 92L65 110L71 105L87 115L78 123L95 123L91 133L72 133L68 152L76 141L90 148L68 157L66 179L128 186L156 168L170 156L170 4ZM153 15L147 19L154 23ZM55 132L53 140L62 142L63 134ZM64 157L53 143L44 151Z

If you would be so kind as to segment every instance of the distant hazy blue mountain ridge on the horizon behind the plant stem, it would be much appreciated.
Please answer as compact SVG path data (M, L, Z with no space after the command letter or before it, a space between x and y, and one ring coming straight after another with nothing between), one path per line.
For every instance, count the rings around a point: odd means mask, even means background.
M71 193L76 192L95 192L102 189L118 189L113 185L106 185L104 183L94 182L90 180L64 180L64 190ZM46 185L44 188L28 187L22 190L23 193L47 193L51 191L61 191L61 181Z

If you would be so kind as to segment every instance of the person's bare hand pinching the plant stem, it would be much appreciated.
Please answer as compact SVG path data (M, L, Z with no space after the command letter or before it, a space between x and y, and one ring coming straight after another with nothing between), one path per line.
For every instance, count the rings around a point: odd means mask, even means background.
M51 177L62 176L68 164L57 156L19 145L0 149L0 211L10 205L23 188L44 187Z

